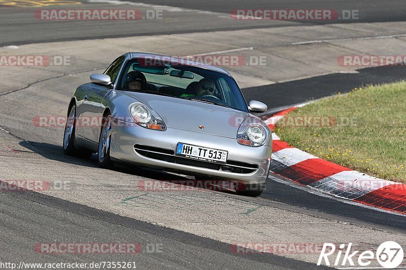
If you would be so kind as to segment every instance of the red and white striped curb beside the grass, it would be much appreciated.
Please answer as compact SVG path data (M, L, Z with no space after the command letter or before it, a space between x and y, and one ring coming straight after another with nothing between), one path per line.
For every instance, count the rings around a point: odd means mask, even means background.
M274 132L279 119L303 105L280 111L266 119L265 123ZM290 146L275 133L272 136L270 171L273 173L336 197L406 214L406 184L345 168Z

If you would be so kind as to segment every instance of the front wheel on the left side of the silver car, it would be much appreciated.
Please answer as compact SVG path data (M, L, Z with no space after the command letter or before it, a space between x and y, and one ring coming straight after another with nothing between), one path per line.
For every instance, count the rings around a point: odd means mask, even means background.
M106 142L108 142L107 145ZM114 164L110 158L110 146L111 146L111 115L107 114L103 118L103 127L101 127L100 136L98 139L97 163L101 168L104 169L114 168Z

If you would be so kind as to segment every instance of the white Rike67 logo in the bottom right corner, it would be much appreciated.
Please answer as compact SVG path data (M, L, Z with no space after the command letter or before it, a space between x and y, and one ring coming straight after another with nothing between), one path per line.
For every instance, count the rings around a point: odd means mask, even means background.
M393 241L382 243L376 252L366 250L359 253L359 250L351 252L352 243L341 244L339 248L332 243L324 243L323 248L317 261L317 265L324 263L327 266L355 266L357 262L359 266L365 267L371 264L373 260L377 260L384 268L396 268L403 261L402 247ZM337 251L337 252L336 252ZM335 256L336 254L336 256Z

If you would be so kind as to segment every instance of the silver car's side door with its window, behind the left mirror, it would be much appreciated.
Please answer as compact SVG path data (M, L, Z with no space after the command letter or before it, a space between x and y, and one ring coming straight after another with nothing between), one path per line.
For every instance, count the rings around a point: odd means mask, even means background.
M106 69L104 74L110 76L111 81L114 83L117 79L120 68L124 62L125 57L120 56ZM112 90L112 85L101 85L92 83L91 87L87 89L83 99L83 113L82 125L83 136L91 141L98 142L100 133L100 117L102 113L101 101Z

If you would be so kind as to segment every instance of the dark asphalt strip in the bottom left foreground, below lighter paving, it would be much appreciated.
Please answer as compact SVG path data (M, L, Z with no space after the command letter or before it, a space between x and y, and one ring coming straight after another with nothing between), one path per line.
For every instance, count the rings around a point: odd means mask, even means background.
M134 261L137 268L141 269L323 268L273 254L241 256L230 252L230 245L225 243L36 192L4 193L0 196L0 205L0 235L8 242L7 245L3 243L0 252L0 261L3 262ZM137 243L143 246L143 251L136 255L52 254L44 257L42 254L33 254L32 247L43 239L69 239L70 243L127 243L128 239L137 239ZM150 245L146 248L149 243L159 243L159 246ZM10 258L10 254L13 254L13 258Z

